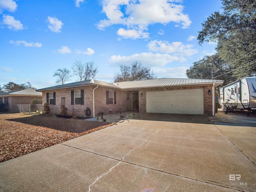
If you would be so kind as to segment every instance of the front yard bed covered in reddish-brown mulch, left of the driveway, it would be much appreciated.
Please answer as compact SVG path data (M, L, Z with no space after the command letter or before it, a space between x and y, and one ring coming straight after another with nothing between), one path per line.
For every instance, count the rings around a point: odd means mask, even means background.
M0 114L0 162L112 125L42 115Z

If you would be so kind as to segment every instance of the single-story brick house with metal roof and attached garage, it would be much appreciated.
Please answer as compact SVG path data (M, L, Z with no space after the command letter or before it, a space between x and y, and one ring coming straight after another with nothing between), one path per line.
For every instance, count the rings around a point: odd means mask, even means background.
M85 80L38 89L42 104L49 103L52 113L60 114L65 105L68 114L84 116L86 107L93 116L127 110L147 113L214 115L215 87L221 80L158 78L107 83Z

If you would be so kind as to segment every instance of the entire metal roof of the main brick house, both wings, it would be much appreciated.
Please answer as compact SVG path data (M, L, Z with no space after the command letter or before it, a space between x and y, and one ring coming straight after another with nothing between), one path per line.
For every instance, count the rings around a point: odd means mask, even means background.
M154 87L164 87L164 86L202 85L202 84L213 84L213 83L215 83L217 86L222 84L223 81L207 80L207 79L158 78L158 79L148 79L148 80L139 80L139 81L118 82L118 83L111 84L111 83L91 79L91 80L84 80L84 81L79 81L74 83L42 88L36 91L56 90L56 89L65 89L65 88L91 86L91 85L98 85L98 86L110 87L115 89L138 89L138 88L154 88Z

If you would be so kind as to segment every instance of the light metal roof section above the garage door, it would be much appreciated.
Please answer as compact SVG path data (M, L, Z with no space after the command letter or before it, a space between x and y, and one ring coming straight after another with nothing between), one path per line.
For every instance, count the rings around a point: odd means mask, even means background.
M154 88L164 86L183 86L183 85L200 85L200 84L213 84L220 85L222 80L208 80L208 79L182 79L182 78L158 78L140 81L118 82L114 85L122 89L133 88Z

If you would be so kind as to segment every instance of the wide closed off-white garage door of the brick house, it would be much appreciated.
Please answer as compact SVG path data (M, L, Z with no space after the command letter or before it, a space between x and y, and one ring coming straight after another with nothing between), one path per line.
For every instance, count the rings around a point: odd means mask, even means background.
M146 93L148 113L204 114L203 89Z

